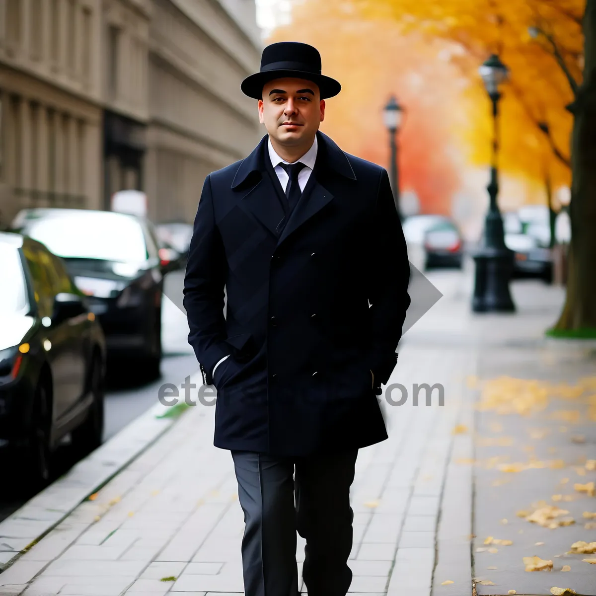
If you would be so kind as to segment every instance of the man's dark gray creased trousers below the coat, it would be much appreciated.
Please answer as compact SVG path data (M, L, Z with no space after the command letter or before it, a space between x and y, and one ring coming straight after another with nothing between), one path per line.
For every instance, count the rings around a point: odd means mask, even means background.
M246 596L299 594L296 531L306 540L302 576L309 596L346 595L357 456L358 450L292 459L232 451L244 511Z

